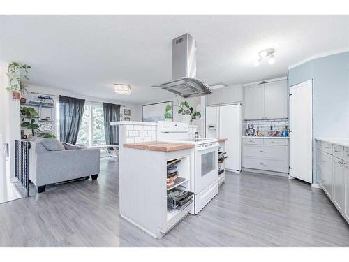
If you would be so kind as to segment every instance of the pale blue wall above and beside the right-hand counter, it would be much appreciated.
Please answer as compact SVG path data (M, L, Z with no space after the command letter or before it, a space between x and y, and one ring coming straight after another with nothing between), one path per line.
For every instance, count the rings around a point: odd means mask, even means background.
M314 138L349 138L349 52L313 59L288 71L288 87L309 79L313 79ZM317 183L315 149L313 157Z

